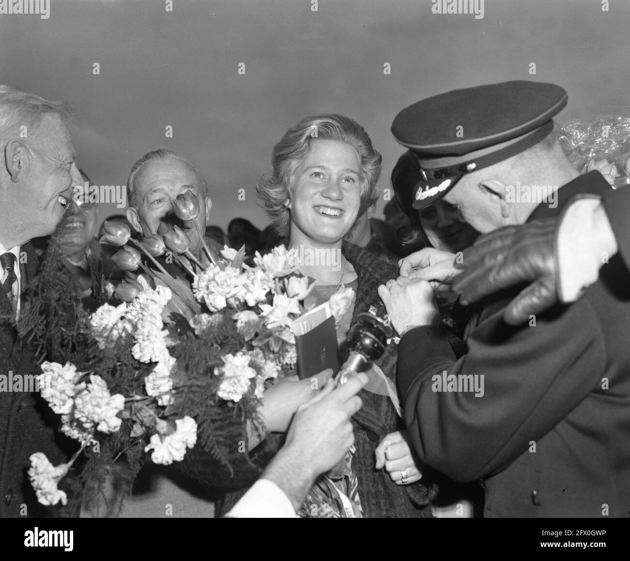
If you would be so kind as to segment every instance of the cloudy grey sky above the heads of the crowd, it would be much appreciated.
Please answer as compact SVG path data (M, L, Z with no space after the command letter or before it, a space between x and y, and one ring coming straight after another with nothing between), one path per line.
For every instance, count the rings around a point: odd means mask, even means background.
M236 216L265 226L256 177L307 115L362 124L383 154L381 188L403 152L392 119L442 91L535 79L568 90L560 124L630 115L627 0L608 12L600 0L486 0L483 19L433 14L430 0L319 0L317 12L311 0L173 0L172 13L164 0L51 4L48 20L0 15L0 82L71 103L79 165L98 185L125 184L156 147L181 153L223 228Z

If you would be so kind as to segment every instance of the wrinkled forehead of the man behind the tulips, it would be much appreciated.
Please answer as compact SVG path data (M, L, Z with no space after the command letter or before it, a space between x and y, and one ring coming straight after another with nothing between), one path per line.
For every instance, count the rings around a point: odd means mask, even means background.
M186 185L196 195L203 194L201 178L194 168L185 161L174 158L147 163L134 180L134 187L142 196L156 190L166 192L180 190Z

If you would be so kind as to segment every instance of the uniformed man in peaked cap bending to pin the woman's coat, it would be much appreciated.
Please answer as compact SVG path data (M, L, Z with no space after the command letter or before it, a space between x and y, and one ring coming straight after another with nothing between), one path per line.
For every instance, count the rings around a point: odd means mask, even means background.
M444 197L490 233L561 216L576 195L599 204L609 184L597 171L578 175L553 131L566 100L554 84L513 81L404 109L392 132L424 171L416 207ZM423 250L379 287L401 335L398 387L416 452L455 480L479 480L485 516L629 516L630 286L622 258L610 258L576 303L525 325L503 319L523 284L488 296L473 308L459 359L428 282L449 284L454 261Z

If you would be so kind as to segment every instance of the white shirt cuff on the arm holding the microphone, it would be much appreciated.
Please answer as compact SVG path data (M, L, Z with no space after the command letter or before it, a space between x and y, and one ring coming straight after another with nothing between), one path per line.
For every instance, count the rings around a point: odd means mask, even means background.
M289 497L268 479L254 483L226 518L297 518Z

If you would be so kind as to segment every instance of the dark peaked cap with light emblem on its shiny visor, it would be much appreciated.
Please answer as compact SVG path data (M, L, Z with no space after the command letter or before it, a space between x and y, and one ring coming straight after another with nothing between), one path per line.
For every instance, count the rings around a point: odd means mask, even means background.
M391 131L420 163L414 208L443 197L462 175L540 142L566 101L556 84L519 80L452 90L404 108Z

